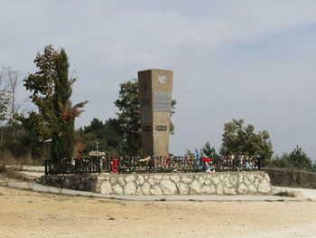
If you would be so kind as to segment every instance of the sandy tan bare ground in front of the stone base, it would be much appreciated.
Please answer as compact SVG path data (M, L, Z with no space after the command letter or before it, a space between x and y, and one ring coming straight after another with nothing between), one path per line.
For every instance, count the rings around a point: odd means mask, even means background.
M316 202L130 202L0 186L3 237L316 237Z

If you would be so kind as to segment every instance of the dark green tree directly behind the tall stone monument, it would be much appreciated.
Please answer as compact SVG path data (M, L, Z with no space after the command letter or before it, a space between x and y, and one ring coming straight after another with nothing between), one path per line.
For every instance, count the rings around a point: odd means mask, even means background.
M119 109L117 122L127 142L129 156L139 155L141 151L141 116L138 81L125 81L121 83L118 99L115 101ZM172 100L171 115L174 114L176 100ZM174 133L174 126L171 123L171 134Z

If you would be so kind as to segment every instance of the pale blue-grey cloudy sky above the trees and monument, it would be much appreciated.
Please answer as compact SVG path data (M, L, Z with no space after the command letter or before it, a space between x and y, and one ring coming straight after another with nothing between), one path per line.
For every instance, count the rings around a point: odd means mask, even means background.
M173 154L218 148L224 123L245 119L275 154L299 145L316 159L315 12L314 0L2 0L0 66L22 81L36 52L63 47L79 78L72 101L89 100L77 128L115 117L118 85L137 71L172 70Z

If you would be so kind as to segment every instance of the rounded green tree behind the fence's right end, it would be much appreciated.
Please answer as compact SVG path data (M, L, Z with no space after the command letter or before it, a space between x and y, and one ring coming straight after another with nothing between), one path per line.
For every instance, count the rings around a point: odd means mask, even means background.
M253 125L244 126L244 119L233 119L224 124L221 152L234 155L256 156L262 158L263 165L269 163L273 155L270 135L266 130L255 133Z

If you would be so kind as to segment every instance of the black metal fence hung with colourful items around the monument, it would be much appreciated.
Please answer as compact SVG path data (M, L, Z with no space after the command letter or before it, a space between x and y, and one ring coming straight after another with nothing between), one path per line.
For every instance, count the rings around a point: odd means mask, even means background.
M45 160L45 174L260 170L260 157L89 157Z

